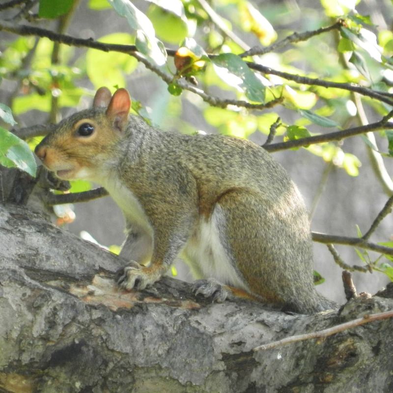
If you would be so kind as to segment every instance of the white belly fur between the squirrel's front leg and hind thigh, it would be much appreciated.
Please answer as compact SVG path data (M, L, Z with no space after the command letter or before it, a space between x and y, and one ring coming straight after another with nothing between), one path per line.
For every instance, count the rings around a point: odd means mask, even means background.
M185 259L192 266L197 265L196 270L200 270L203 278L214 278L223 284L249 291L225 252L220 240L219 223L225 223L225 216L221 207L216 205L210 219L202 219L188 240L183 252Z

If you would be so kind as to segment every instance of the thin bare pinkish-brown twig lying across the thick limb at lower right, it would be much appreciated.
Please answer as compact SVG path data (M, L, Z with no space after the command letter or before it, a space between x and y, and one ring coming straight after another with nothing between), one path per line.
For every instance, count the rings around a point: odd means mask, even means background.
M293 342L305 341L311 338L323 339L332 335L335 335L339 332L343 332L344 330L353 329L361 325L365 325L366 323L388 319L393 317L393 311L385 311L385 312L377 312L375 314L365 314L363 317L354 319L349 322L341 323L340 325L336 325L332 328L319 330L317 332L306 333L303 335L286 337L278 341L270 342L268 344L259 345L258 347L253 348L253 351L265 351L267 349L281 347L286 344L290 344Z

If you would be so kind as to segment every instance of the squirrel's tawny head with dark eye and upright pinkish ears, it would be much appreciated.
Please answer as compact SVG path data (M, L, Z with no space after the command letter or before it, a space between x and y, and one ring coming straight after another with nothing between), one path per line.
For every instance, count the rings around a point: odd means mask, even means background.
M62 120L35 148L44 166L64 180L94 180L113 161L128 124L131 98L124 88L100 87L93 108Z

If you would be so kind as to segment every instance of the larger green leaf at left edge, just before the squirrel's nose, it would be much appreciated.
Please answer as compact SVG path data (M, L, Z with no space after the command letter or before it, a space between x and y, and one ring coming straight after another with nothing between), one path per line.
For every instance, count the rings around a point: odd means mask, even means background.
M35 176L37 165L28 144L0 127L0 164L7 168L19 168Z

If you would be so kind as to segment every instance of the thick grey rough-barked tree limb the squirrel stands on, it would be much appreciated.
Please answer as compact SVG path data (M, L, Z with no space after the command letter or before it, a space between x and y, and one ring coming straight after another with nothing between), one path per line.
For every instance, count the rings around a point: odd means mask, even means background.
M171 278L119 291L113 277L124 263L24 207L0 205L0 392L393 391L392 319L252 350L393 309L392 299L290 315L214 304Z

